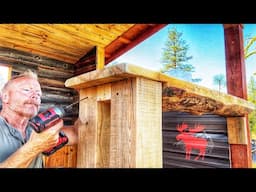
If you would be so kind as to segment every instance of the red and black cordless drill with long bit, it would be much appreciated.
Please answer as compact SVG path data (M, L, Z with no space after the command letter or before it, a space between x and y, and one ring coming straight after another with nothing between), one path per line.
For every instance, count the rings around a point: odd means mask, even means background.
M54 125L59 119L64 117L68 108L70 108L71 106L79 103L80 101L82 101L86 98L87 97L85 97L75 103L72 103L66 107L57 107L57 106L51 107L51 108L47 109L46 111L41 112L41 113L37 114L35 117L33 117L30 120L30 125L37 133L41 133L48 127ZM53 154L54 152L56 152L57 150L59 150L60 148L62 148L67 143L68 143L68 137L65 135L65 133L63 131L60 131L58 143L54 147L44 151L43 154L46 156L49 156L49 155Z

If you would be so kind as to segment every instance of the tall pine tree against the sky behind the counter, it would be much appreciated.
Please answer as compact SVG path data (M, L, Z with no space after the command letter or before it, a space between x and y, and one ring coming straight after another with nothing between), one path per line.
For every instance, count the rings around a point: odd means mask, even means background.
M187 63L192 59L192 56L187 56L188 49L188 44L182 39L182 33L178 32L175 27L169 30L162 54L161 63L163 67L160 71L175 77L193 81L191 73L194 72L194 66ZM196 79L195 81L198 82L200 79Z

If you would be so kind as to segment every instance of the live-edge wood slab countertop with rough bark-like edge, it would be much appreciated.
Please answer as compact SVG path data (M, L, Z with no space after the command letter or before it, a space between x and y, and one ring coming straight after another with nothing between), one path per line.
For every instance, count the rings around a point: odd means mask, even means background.
M79 90L138 76L162 82L163 112L211 113L235 117L255 110L255 105L244 99L127 63L72 77L65 82L65 86Z

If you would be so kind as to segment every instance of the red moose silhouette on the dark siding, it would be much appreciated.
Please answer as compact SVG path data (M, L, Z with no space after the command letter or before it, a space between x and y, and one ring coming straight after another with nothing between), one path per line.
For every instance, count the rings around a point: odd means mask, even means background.
M197 149L199 150L199 153L194 160L198 160L200 157L204 160L208 142L204 138L195 136L195 133L201 132L204 129L204 126L195 125L194 128L188 129L188 132L184 132L184 130L188 128L188 125L185 123L177 125L176 128L180 132L180 134L176 136L176 139L178 141L183 141L186 150L186 159L190 159L192 149Z

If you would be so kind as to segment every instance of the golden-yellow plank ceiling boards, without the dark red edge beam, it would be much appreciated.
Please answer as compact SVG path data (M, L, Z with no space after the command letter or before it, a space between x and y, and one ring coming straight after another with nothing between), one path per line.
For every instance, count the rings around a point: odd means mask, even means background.
M93 47L106 47L133 25L1 24L0 47L75 63Z

